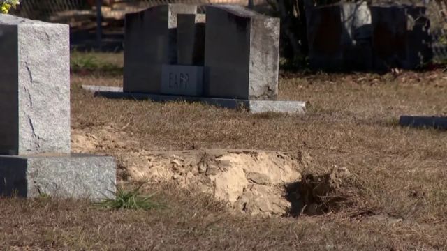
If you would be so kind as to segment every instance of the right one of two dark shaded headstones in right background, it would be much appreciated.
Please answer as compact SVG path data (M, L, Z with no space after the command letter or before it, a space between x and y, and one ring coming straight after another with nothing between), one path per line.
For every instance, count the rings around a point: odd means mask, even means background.
M432 60L430 20L425 7L371 6L374 68L414 69Z

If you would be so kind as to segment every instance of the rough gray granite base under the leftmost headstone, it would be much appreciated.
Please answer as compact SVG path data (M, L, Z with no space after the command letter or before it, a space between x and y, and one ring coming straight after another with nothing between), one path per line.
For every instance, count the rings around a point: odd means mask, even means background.
M0 155L0 195L98 200L116 190L116 164L98 155Z

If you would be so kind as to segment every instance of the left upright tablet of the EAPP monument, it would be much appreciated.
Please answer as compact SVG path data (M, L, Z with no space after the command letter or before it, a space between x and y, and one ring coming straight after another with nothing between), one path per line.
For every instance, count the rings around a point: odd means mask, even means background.
M124 91L159 93L161 66L177 63L177 14L195 14L185 4L155 6L126 14Z

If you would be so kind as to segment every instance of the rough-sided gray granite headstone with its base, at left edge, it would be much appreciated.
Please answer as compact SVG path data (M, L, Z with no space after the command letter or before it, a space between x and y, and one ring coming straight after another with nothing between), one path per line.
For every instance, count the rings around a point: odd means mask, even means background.
M100 199L112 157L71 155L69 27L0 15L0 195Z

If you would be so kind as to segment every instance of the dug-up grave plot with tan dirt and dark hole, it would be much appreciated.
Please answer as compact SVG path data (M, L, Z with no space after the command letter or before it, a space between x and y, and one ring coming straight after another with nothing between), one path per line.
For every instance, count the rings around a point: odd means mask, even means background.
M129 144L119 128L94 132L72 131L78 153L110 152L117 157L119 175L130 181L174 182L225 201L235 211L250 215L318 215L349 204L346 185L353 175L335 167L325 174L311 170L305 152L284 153L243 149L145 151Z

